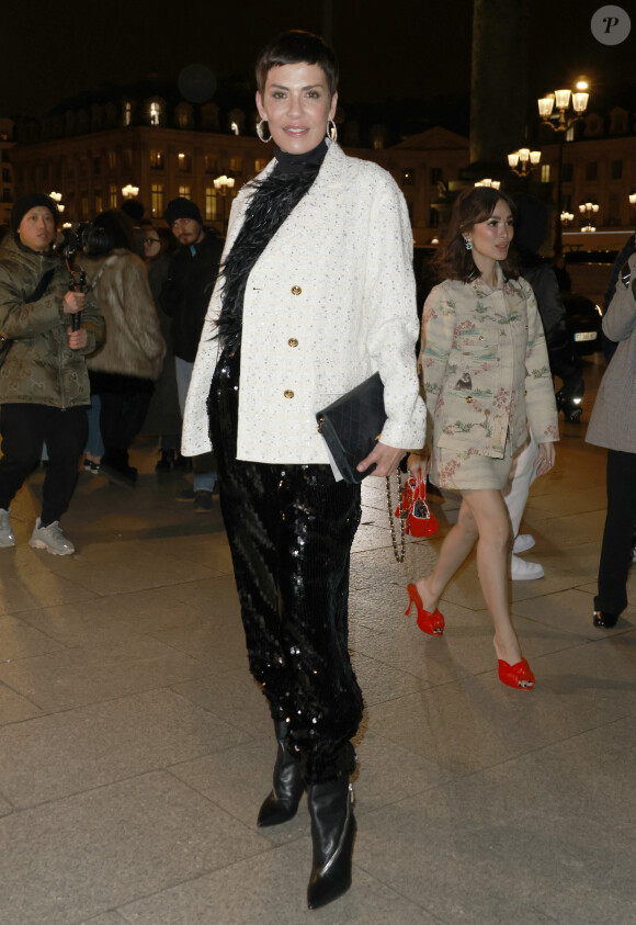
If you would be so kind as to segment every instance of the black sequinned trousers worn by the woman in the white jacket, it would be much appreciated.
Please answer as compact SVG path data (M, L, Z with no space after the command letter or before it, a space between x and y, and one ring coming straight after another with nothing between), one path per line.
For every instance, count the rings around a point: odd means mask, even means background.
M362 693L348 650L350 550L360 486L328 465L237 460L240 349L226 348L208 413L220 504L241 605L250 670L308 785L351 774Z

